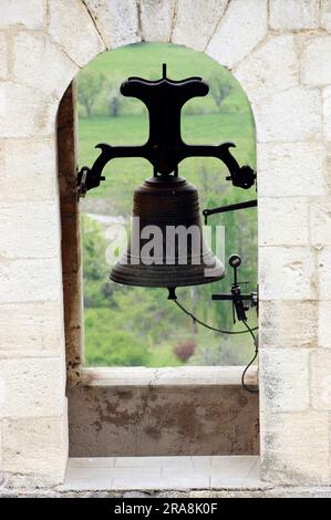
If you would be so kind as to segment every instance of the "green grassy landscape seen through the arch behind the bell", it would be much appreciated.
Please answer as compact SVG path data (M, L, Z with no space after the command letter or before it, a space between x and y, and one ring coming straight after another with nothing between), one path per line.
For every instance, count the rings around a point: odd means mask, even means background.
M183 111L182 135L190 144L234 142L234 155L242 164L255 167L255 125L248 101L229 72L201 53L170 44L128 45L102 54L79 75L103 74L104 83L120 86L131 75L147 79L161 76L162 63L167 63L168 76L175 80L190 75L204 79L220 74L232 90L217 110L210 94L190 101ZM105 87L106 89L106 87ZM106 92L106 91L105 91ZM124 98L118 117L107 115L107 96L101 92L95 100L93 117L86 117L79 106L79 163L91 166L99 155L100 142L113 145L143 144L147 138L147 113L138 101ZM144 159L115 159L104 169L106 180L87 194L86 200L103 199L102 212L127 217L132 211L134 188L152 175ZM190 158L179 165L179 175L199 190L201 209L255 198L252 190L232 188L225 177L226 167L213 158ZM91 202L90 207L91 207ZM244 215L245 214L245 215ZM210 222L211 223L211 222ZM226 254L242 253L246 267L242 277L256 283L256 211L214 217L213 223L226 226ZM102 275L90 269L93 251L106 248L103 230L97 227L87 236L84 231L85 354L90 365L169 366L189 364L241 364L251 345L246 335L219 336L193 326L189 319L169 306L164 290L114 287L106 281L110 267L103 264ZM89 242L92 240L92 245ZM86 246L87 243L87 246ZM216 287L213 287L216 285ZM231 327L231 309L226 303L210 302L215 290L228 291L230 280L207 287L183 289L182 301L199 316L218 326ZM252 313L252 311L251 311ZM254 315L254 314L252 314ZM255 324L252 318L251 324ZM240 329L240 325L236 327ZM174 352L179 345L194 343L194 354L187 361Z

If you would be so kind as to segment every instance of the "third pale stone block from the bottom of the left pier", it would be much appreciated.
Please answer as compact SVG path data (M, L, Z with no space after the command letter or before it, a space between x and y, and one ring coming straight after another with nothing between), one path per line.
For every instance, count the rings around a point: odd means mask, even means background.
M0 357L56 356L63 350L62 302L0 305Z

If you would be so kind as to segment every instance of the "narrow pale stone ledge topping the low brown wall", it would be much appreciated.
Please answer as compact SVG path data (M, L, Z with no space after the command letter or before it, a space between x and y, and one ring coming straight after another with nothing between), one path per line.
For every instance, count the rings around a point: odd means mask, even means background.
M178 366L167 368L83 368L84 386L232 386L241 385L244 366ZM258 384L258 367L246 375L248 385Z

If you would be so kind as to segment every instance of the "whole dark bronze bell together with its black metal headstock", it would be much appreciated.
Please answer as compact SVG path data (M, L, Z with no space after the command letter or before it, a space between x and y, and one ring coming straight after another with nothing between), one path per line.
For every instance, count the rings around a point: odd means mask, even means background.
M230 154L230 148L235 146L232 143L215 146L188 145L183 142L182 108L187 101L205 96L208 90L201 77L170 80L167 77L166 64L163 64L159 80L128 77L122 83L121 93L141 100L147 107L148 139L141 146L111 146L100 143L96 147L101 149L101 154L92 168L84 166L77 174L77 193L83 197L104 180L103 168L116 157L143 157L153 166L154 177L145 180L134 194L133 216L136 218L133 219L127 251L111 272L111 279L115 282L169 288L169 298L175 299L176 287L215 282L225 274L223 263L203 240L197 190L186 179L177 176L178 165L187 157L216 157L229 170L227 180L244 189L255 184L256 175L249 166L240 167ZM245 205L250 207L251 202L248 202L249 206L247 202ZM153 248L147 233L151 226L161 232L161 240ZM173 237L169 248L168 228L169 231L173 228L184 228L184 231L187 230L186 239L176 240ZM190 228L197 229L198 233L193 233L189 240ZM195 235L199 235L199 241ZM148 254L152 249L156 250L153 262Z

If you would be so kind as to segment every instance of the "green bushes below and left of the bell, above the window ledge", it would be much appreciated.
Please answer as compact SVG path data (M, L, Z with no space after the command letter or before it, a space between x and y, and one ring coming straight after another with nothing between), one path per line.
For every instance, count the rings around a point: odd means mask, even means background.
M245 336L235 336L229 341L217 333L205 332L167 301L164 289L131 288L110 282L106 247L103 228L84 216L85 345L89 365L176 366L183 363L217 365L245 362ZM210 306L211 291L209 285L201 285L178 289L177 294L200 319L231 329L230 308L217 303Z

